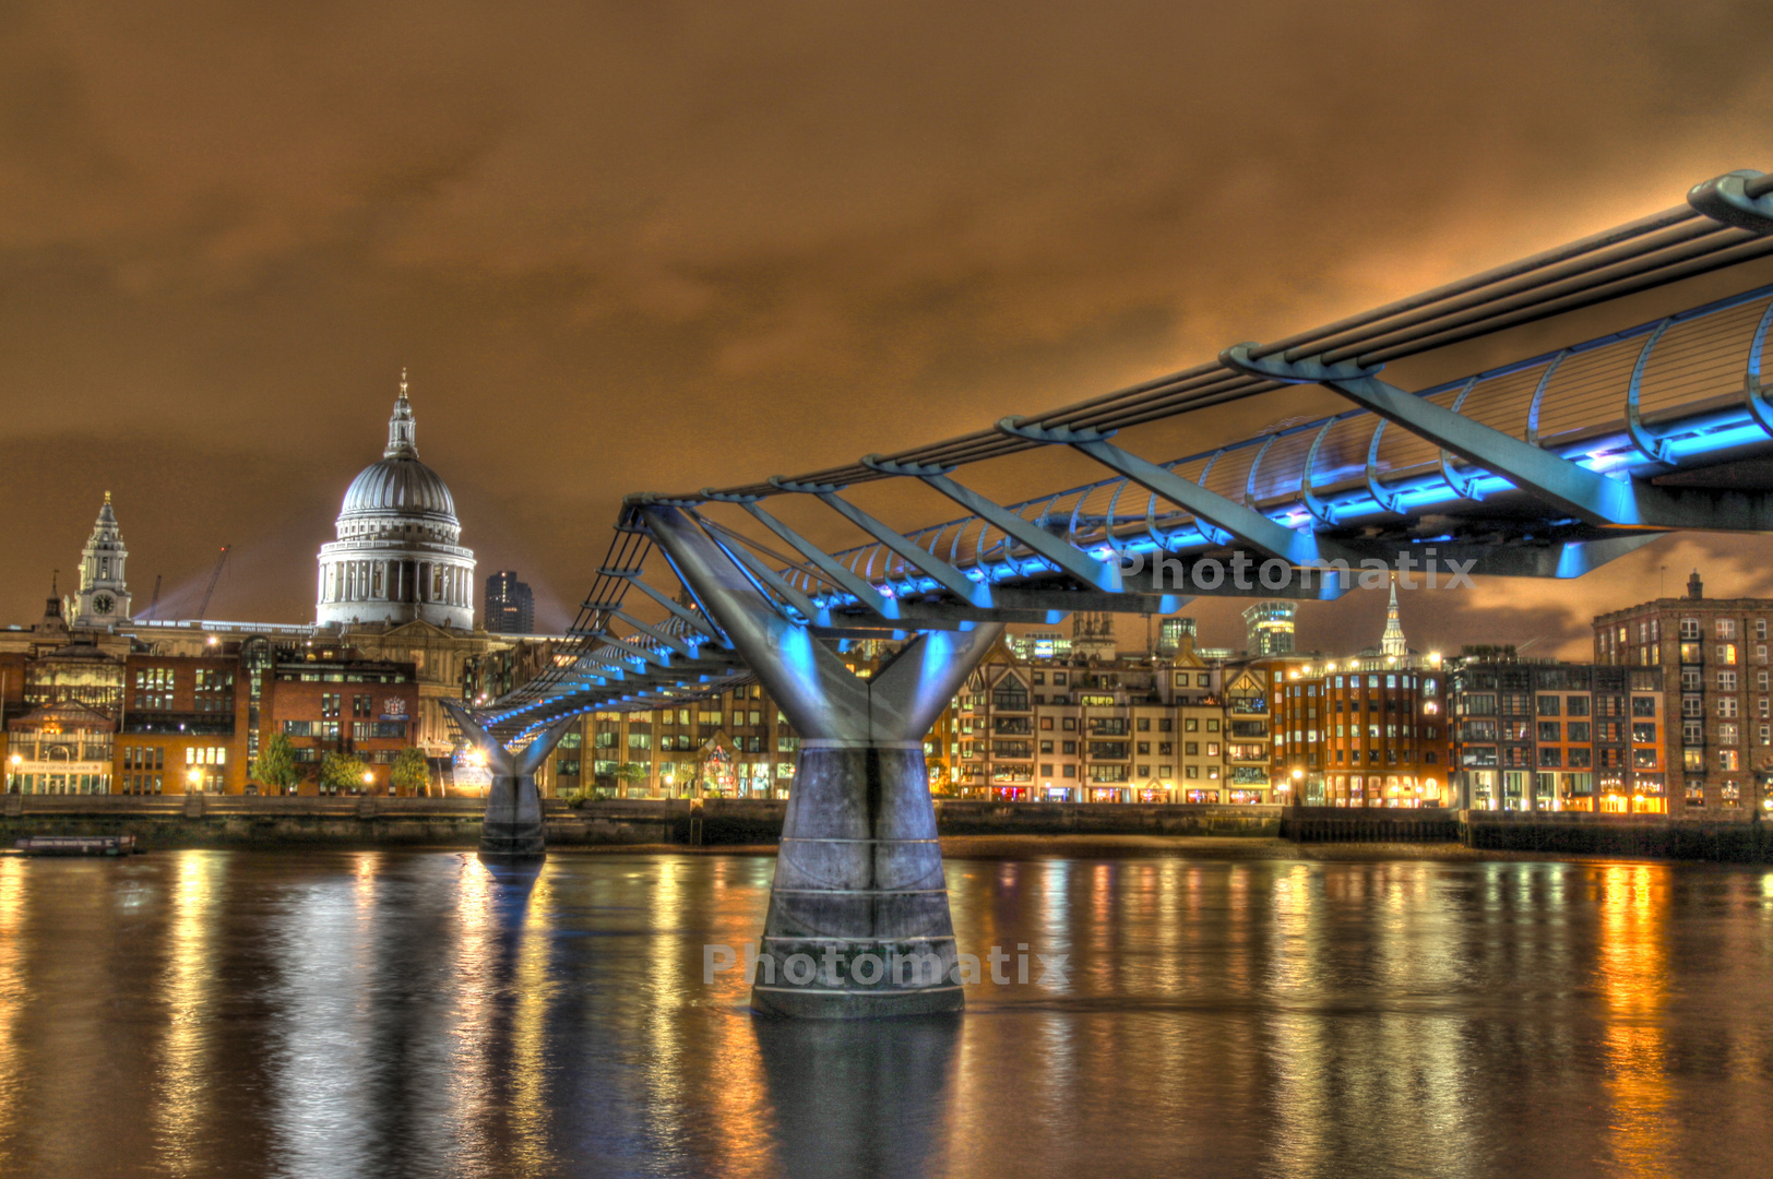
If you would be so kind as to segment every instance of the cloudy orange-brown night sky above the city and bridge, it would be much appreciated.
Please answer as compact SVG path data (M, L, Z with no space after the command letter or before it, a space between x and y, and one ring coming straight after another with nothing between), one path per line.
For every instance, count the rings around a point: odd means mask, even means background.
M1076 401L1773 168L1769 50L1764 0L0 5L0 621L71 583L106 489L137 608L163 574L191 613L230 543L211 617L312 621L406 367L480 574L518 569L562 626L628 491ZM1099 473L1051 463L970 482ZM1573 585L1410 596L1404 624L1580 656L1592 613L1695 564L1773 592L1769 557L1677 537ZM1190 610L1202 642L1241 645L1241 606ZM1383 594L1308 606L1301 645L1381 619Z

